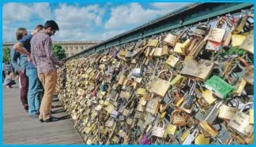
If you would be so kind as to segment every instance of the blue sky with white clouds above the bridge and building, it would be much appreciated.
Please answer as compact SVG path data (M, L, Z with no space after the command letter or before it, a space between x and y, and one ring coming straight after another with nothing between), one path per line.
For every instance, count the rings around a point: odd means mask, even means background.
M15 42L17 28L55 20L53 41L101 41L137 28L189 3L6 3L3 41Z

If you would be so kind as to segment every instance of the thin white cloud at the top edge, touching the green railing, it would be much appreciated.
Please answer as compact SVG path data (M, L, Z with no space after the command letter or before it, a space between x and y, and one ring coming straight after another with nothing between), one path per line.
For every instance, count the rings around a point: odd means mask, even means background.
M171 13L171 11L174 11L175 9L182 8L183 6L186 6L190 3L174 3L174 2L155 2L152 3L152 6L157 9L168 9L168 11Z

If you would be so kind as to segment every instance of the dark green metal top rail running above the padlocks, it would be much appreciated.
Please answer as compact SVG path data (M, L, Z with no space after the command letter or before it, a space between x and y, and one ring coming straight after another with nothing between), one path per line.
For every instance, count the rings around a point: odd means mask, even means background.
M134 28L131 31L117 35L111 39L107 39L104 42L100 42L96 46L88 47L88 49L74 54L71 57L67 57L63 61L72 59L85 53L92 53L91 50L104 50L113 46L120 46L126 42L133 42L138 39L150 37L152 35L160 34L164 31L170 31L175 28L182 28L186 25L194 25L198 22L205 21L207 19L214 19L214 17L224 15L225 13L238 13L240 9L247 9L254 6L253 3L195 3L189 6L185 6L182 9L178 9L173 13L168 13L164 17L149 21L149 23L143 24L138 28ZM179 24L179 20L183 19L183 24ZM132 37L134 36L134 37ZM130 39L131 38L131 39ZM119 43L116 43L119 42Z

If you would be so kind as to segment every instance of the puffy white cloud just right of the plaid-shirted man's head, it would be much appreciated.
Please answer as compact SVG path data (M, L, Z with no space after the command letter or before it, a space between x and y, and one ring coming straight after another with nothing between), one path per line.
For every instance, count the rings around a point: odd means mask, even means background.
M60 30L90 28L93 23L100 25L103 14L104 9L98 5L76 7L60 4L59 8L55 9L55 17Z

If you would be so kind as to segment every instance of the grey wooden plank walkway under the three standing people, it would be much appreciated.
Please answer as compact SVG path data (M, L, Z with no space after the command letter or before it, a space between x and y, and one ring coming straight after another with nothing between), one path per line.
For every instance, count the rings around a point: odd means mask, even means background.
M52 111L61 120L40 123L30 118L21 106L20 89L3 87L3 144L85 144L70 116L62 108L57 98Z

